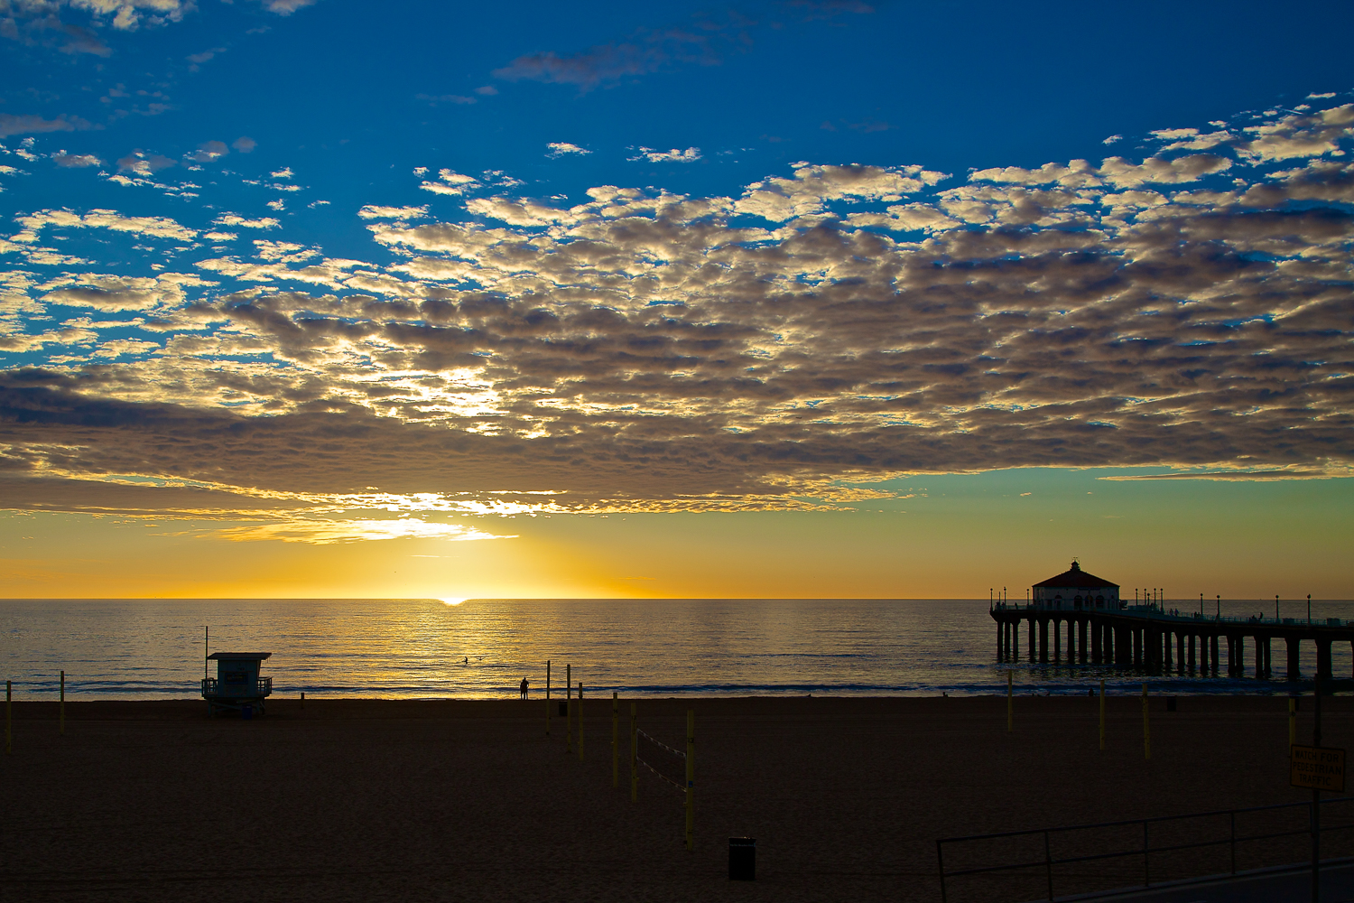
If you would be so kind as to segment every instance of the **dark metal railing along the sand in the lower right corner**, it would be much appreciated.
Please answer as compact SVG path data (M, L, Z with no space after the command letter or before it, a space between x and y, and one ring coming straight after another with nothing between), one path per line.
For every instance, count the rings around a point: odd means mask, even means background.
M1354 816L1349 803L1354 803L1354 796L1320 801L1317 830L1322 838L1354 829L1354 822L1349 820L1330 823L1332 815ZM1330 811L1332 807L1334 812ZM1311 816L1312 803L1280 803L949 837L936 841L941 902L949 903L953 880L963 876L1005 876L1001 887L984 883L982 889L986 894L982 896L1024 899L1021 894L1043 891L1048 894L1048 900L1055 900L1055 889L1060 889L1063 896L1085 899L1298 864L1304 861L1304 853L1311 853L1311 846L1304 842L1312 835ZM1349 854L1347 847L1347 843L1342 845L1343 854ZM1324 843L1322 849L1327 849ZM992 860L999 860L999 864L990 864ZM1097 864L1095 868L1076 868L1091 864Z

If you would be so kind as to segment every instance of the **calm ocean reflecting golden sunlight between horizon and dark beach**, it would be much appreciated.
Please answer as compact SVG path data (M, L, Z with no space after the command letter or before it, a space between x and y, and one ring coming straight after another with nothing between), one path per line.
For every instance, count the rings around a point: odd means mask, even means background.
M1223 615L1273 607L1235 600ZM1284 615L1305 617L1305 600ZM1354 617L1354 602L1313 602L1312 615ZM0 680L16 699L56 699L61 670L72 700L195 697L204 627L211 651L272 653L263 674L278 696L512 697L525 677L535 697L547 659L556 690L567 663L589 696L974 695L1005 692L1007 670L1018 693L1085 693L1099 680L1112 692L1290 689L998 662L987 600L0 600ZM1304 644L1304 674L1315 659ZM1281 647L1274 662L1282 673ZM1349 644L1336 644L1335 676L1350 669Z

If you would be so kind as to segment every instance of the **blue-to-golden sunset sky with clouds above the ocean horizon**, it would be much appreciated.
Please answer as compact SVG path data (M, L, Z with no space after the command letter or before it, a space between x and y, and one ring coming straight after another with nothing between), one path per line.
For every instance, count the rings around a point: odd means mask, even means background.
M0 0L0 594L1354 598L1351 32Z

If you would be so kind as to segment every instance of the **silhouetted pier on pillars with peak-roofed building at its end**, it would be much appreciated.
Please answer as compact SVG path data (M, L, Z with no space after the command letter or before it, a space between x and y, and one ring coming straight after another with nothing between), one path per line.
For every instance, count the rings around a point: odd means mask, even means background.
M1078 601L1079 600L1079 601ZM1255 677L1277 677L1271 653L1284 644L1284 677L1301 678L1301 643L1316 646L1316 677L1330 680L1331 647L1354 647L1354 620L1327 617L1221 617L1185 612L1162 602L1120 600L1118 585L1087 574L1078 562L1030 588L1024 605L991 602L999 661L1133 665L1158 674L1244 677L1247 642ZM1024 642L1021 631L1025 631Z

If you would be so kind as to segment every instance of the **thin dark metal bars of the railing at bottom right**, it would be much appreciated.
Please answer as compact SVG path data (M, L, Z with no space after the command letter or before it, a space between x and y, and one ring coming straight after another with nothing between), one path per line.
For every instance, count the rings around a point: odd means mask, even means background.
M1334 806L1334 804L1339 804L1339 803L1350 803L1350 801L1354 801L1354 796L1339 796L1339 797L1334 797L1334 799L1322 800L1320 806L1322 807L1328 807L1328 806ZM1056 899L1053 896L1053 871L1055 871L1056 866L1060 866L1060 865L1072 865L1072 864L1078 864L1078 862L1097 862L1097 861L1114 860L1114 858L1122 860L1122 858L1129 858L1129 857L1133 857L1133 858L1141 857L1141 860L1143 860L1143 871L1141 871L1141 879L1143 880L1141 880L1141 884L1133 884L1132 887L1144 887L1144 888L1145 887L1152 887L1152 875L1154 875L1154 872L1152 872L1152 856L1154 854L1158 857L1158 864L1160 864L1160 860L1162 860L1163 854L1179 853L1179 852L1183 852L1183 850L1201 850L1201 849L1206 849L1206 847L1227 846L1228 847L1228 854L1229 854L1228 856L1229 865L1231 865L1231 872L1229 873L1231 875L1236 875L1238 873L1238 871L1236 871L1236 846L1238 846L1238 843L1254 843L1254 842L1259 842L1259 841L1277 841L1277 839L1285 838L1285 837L1311 837L1311 822L1308 822L1307 827L1298 827L1298 829L1293 829L1293 830L1266 831L1266 833L1259 833L1259 834L1238 834L1236 833L1236 816L1238 815L1248 815L1251 812L1266 812L1266 814L1273 815L1273 814L1278 814L1278 811L1281 811L1281 810L1307 810L1308 814L1311 815L1312 803L1280 803L1280 804L1275 804L1275 806L1252 806L1250 808L1216 810L1216 811L1212 811L1212 812L1194 812L1194 814L1190 814L1190 815L1164 815L1164 816L1159 816L1159 818L1128 819L1128 820L1121 820L1121 822L1098 822L1098 823L1094 823L1094 824L1066 824L1066 826L1060 826L1060 827L1033 829L1033 830L1028 830L1028 831L1002 831L1002 833L997 833L997 834L971 834L971 835L967 835L967 837L948 837L948 838L936 841L936 860L937 860L937 865L940 866L940 896L941 896L941 902L942 903L949 903L949 888L946 885L946 879L956 879L956 877L965 876L965 875L997 875L997 873L1001 873L1001 872L1025 872L1026 875L1029 875L1033 869L1043 869L1044 871L1044 884L1045 884L1045 889L1048 891L1048 899L1053 900L1053 899ZM1158 842L1156 846L1152 845L1152 835L1154 835L1152 829L1154 827L1158 829L1156 834L1160 834L1162 833L1160 829L1163 829L1166 826L1183 824L1183 823L1186 823L1190 819L1197 819L1197 820L1204 820L1204 819L1221 820L1224 818L1227 820L1225 837L1217 837L1217 838L1212 838L1212 839L1192 839L1192 841L1187 841L1187 842L1178 842L1178 841L1171 841L1171 839L1162 839L1162 841ZM1273 823L1273 819L1271 818L1266 818L1266 823ZM1053 847L1055 847L1053 837L1055 835L1057 835L1059 839L1071 838L1074 849L1085 850L1085 849L1087 849L1087 846L1090 846L1091 841L1090 839L1083 839L1083 842L1078 845L1075 842L1075 838L1071 837L1074 831L1083 831L1083 833L1089 834L1091 831L1104 831L1106 829L1133 829L1133 827L1140 827L1141 829L1141 831L1140 831L1141 843L1140 845L1135 843L1129 849L1113 849L1113 850L1109 850L1109 852L1097 850L1094 853L1079 853L1079 854L1074 854L1074 856L1053 856ZM1317 830L1319 830L1319 833L1322 835L1324 835L1324 834L1331 833L1331 831L1342 831L1342 830L1349 830L1351 827L1354 827L1354 822L1343 823L1343 824L1326 824L1326 819L1322 819L1320 823L1319 823L1319 829ZM1135 833L1135 835L1139 834L1139 831L1133 831L1133 833ZM1037 843L1037 841L1041 838L1043 839L1043 845L1041 845L1043 856L1039 857L1039 858L1034 858L1034 860L1029 860L1029 861L1003 862L1001 865L983 865L983 866L976 866L976 868L969 866L969 868L959 868L959 869L946 869L945 868L945 845L951 845L951 847L953 849L953 845L957 845L957 843L976 843L976 842L980 842L980 841L1016 841L1017 838L1026 838L1026 839L1036 841L1036 843L1033 845L1036 850L1040 849L1040 845ZM1059 843L1057 846L1063 846L1063 845L1064 843ZM1030 845L1026 843L1025 846L1026 846L1026 849L1029 849ZM1037 856L1037 853L1036 853L1036 856ZM1192 862L1197 864L1198 860L1193 858ZM1216 872L1215 871L1215 872L1209 872L1209 873L1205 873L1205 875L1186 876L1183 879L1182 877L1174 877L1174 879L1171 879L1171 877L1164 877L1164 879L1159 877L1158 884L1187 884L1190 881L1200 881L1200 880L1208 880L1208 879L1212 879L1212 877L1217 877L1219 875L1225 875L1225 872ZM1129 888L1125 887L1125 885L1122 885L1122 884L1120 884L1120 885L1117 885L1114 888L1101 888L1098 891L1091 891L1091 892L1087 892L1087 891L1082 889L1082 891L1076 892L1076 896L1078 898L1083 898L1083 896L1091 896L1091 895L1095 895L1095 894L1116 894L1116 892L1120 892L1120 891L1124 891L1124 889L1129 889Z

